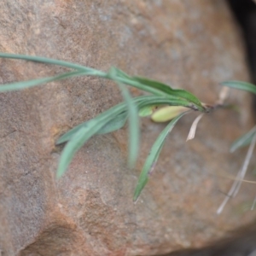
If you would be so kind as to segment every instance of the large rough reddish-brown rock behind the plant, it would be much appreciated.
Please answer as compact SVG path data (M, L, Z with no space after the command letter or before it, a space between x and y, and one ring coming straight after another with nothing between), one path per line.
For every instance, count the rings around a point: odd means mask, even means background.
M0 2L0 51L44 55L107 71L160 79L212 103L218 82L247 80L241 39L223 0L13 0ZM61 72L0 60L0 82ZM136 90L132 90L137 93ZM145 119L136 170L128 170L126 130L93 137L55 181L55 139L121 101L113 83L69 79L0 94L0 248L3 255L153 255L201 246L247 223L243 185L222 215L216 209L245 151L230 143L249 127L249 96L232 92L241 112L179 121L142 196L133 190L148 149L164 125ZM255 190L255 189L254 189Z

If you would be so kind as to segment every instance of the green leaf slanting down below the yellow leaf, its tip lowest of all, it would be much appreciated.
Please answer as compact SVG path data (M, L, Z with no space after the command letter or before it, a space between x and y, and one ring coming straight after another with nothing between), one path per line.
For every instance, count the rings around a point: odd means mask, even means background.
M185 112L185 113L188 113L188 112ZM172 131L172 128L174 127L174 125L176 125L178 119L183 117L185 113L181 113L175 119L172 119L172 121L168 125L166 125L166 128L160 132L159 137L157 137L156 141L154 142L154 145L151 148L150 153L148 154L147 160L145 161L145 164L143 166L143 171L141 172L140 177L138 179L137 187L135 189L134 196L133 196L133 201L137 201L137 198L141 194L146 183L148 183L148 175L154 169L154 166L160 155L160 151L163 148L163 145L166 141L167 135L169 134L169 132Z

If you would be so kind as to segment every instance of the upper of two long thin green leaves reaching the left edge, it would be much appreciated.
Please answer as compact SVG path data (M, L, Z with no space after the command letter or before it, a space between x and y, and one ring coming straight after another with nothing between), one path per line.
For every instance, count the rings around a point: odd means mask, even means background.
M39 57L39 56L32 56L32 55L15 55L15 54L9 54L9 53L0 53L1 58L8 58L8 59L16 59L16 60L24 60L24 61L34 61L34 62L40 62L44 64L52 64L52 65L57 65L61 67L69 67L73 68L79 71L84 71L87 73L90 73L90 75L94 74L96 76L105 76L106 73L102 73L99 70L96 70L91 67L84 67L79 64L74 64L72 62L68 61L58 61L55 59L50 59L50 58L44 58L44 57Z

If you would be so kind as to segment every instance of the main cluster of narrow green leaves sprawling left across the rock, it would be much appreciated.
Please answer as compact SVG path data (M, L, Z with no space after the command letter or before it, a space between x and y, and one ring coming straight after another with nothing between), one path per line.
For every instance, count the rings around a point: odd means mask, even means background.
M111 79L119 85L122 96L125 102L121 102L112 108L109 108L103 113L98 114L94 119L77 125L72 130L67 131L56 142L56 144L66 143L65 148L61 153L61 159L56 172L57 177L61 177L67 171L67 167L73 160L74 154L86 143L90 137L95 135L116 131L125 125L129 119L129 165L135 166L137 154L139 151L139 117L153 113L154 108L159 106L182 106L207 112L200 100L186 90L172 89L169 85L158 81L144 79L140 77L131 77L118 68L112 67L108 73L96 70L90 67L84 67L67 61L58 61L44 57L29 56L29 55L13 55L0 53L0 57L9 59L20 59L24 61L35 61L49 65L57 65L67 67L69 70L66 73L61 73L53 77L32 79L24 82L15 82L10 84L2 84L0 92L10 90L21 90L39 84L45 84L61 79L67 79L77 76L95 76L103 79ZM136 87L139 90L148 92L148 96L137 96L132 98L125 85ZM153 167L160 155L161 148L166 140L167 134L172 131L177 120L184 113L178 115L175 119L166 125L164 131L155 141L150 154L143 166L143 171L138 179L137 188L134 194L134 200L137 200L141 191L148 181L148 174L152 172Z

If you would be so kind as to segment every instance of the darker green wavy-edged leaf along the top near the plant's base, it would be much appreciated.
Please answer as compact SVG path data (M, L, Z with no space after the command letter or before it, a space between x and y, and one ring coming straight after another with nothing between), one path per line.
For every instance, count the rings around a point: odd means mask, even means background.
M151 80L151 79L145 79L145 78L141 78L141 77L133 77L132 79L137 80L141 84L145 84L145 85L148 85L157 90L163 91L169 96L178 96L178 97L181 97L189 102L193 102L199 110L201 110L201 111L205 110L203 108L203 106L201 105L200 100L187 90L172 89L167 84L163 84L158 81Z

